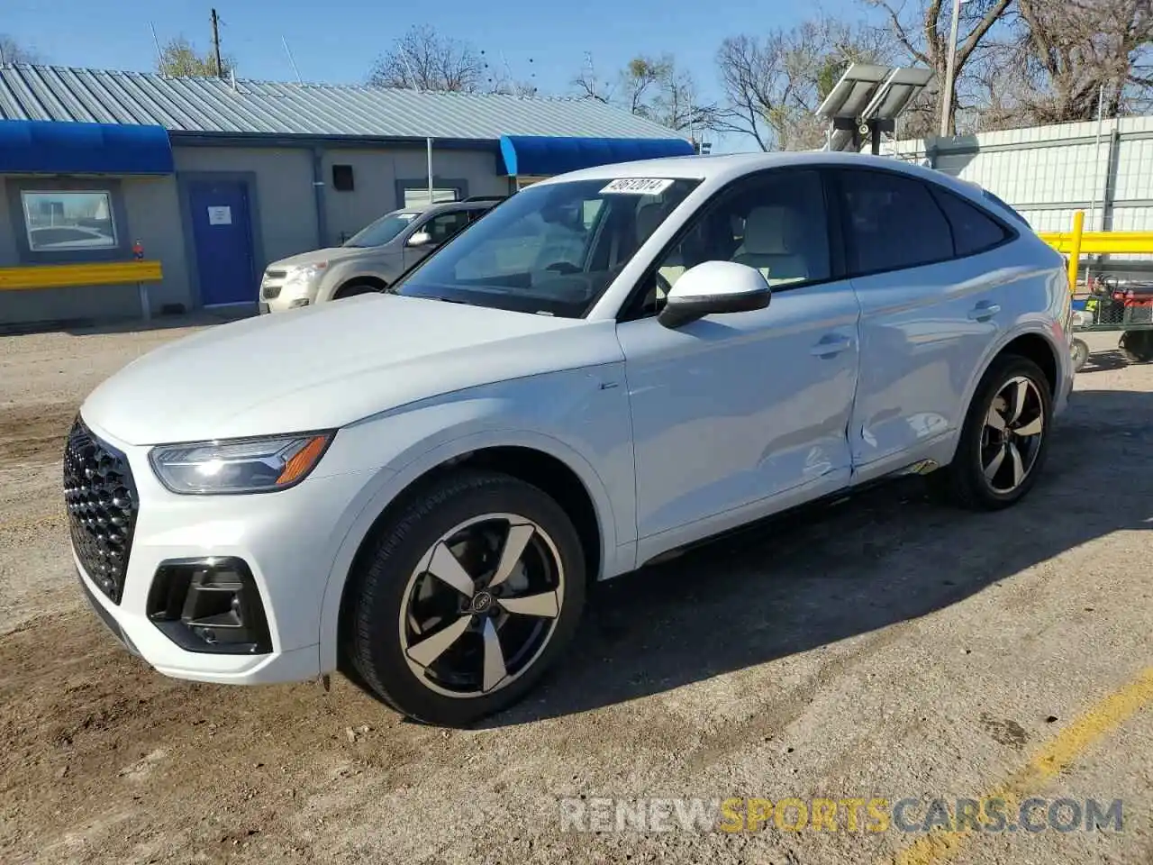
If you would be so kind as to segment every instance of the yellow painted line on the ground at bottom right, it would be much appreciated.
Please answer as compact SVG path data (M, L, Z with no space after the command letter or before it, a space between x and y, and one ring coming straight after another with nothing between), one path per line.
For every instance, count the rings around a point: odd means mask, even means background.
M1107 732L1115 730L1138 709L1153 702L1153 667L1141 674L1078 717L1073 723L1047 742L1024 767L1009 776L986 799L1002 798L1007 813L1017 810L1017 799L1037 791L1067 769L1073 760ZM957 856L980 832L934 832L904 850L884 858L892 865L941 865Z

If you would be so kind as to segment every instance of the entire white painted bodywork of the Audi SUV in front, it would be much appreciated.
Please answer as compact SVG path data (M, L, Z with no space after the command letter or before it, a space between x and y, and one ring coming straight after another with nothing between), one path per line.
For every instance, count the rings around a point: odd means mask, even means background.
M813 153L666 159L575 179L703 178L583 318L364 295L220 325L159 348L93 391L81 415L127 456L140 516L119 606L95 602L157 669L262 683L331 672L353 558L427 472L523 447L580 480L600 529L596 578L921 460L948 462L985 369L1010 340L1052 347L1060 412L1072 382L1060 256L1026 233L940 265L777 291L768 308L679 329L618 323L642 273L730 181L781 166L875 164ZM978 202L980 203L980 202ZM979 304L1000 309L984 321ZM836 351L831 351L836 349ZM312 473L258 495L176 495L157 444L337 429ZM236 556L272 630L259 656L191 653L145 616L160 562Z

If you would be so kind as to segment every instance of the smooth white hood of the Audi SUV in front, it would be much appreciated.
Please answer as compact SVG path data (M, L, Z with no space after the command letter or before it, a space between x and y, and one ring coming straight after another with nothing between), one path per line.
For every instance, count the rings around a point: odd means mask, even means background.
M612 322L366 294L161 346L98 386L81 413L134 445L259 436L616 360Z

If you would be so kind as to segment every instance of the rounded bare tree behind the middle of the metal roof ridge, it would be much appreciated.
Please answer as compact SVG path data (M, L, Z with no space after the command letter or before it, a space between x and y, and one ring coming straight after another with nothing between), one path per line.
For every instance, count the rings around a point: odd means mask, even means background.
M484 62L469 43L419 24L380 57L369 75L375 86L476 92L483 89Z

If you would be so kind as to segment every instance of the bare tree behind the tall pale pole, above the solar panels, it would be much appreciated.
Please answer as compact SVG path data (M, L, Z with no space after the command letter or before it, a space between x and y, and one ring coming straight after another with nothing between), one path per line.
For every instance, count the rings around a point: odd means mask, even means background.
M951 3L948 0L915 0L910 8L910 3L904 0L897 3L894 0L862 0L862 2L886 14L892 37L910 60L927 66L936 74L933 86L920 100L910 106L909 116L905 119L905 131L928 135L939 130L949 62ZM958 112L978 107L973 91L979 90L980 85L979 82L974 82L973 76L965 75L966 67L971 61L977 65L979 50L987 39L990 39L990 33L1003 21L1012 2L1013 0L967 0L960 6L954 65L954 93L949 111L950 134L957 133ZM1063 6L1064 2L1060 5Z

